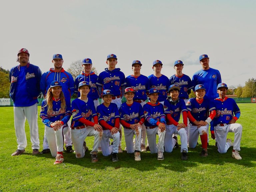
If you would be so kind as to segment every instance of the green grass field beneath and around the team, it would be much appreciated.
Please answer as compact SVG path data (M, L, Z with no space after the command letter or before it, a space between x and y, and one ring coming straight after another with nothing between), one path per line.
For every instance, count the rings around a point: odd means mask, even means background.
M232 148L219 154L210 139L209 156L202 158L200 144L189 149L188 160L182 161L180 149L164 153L163 161L156 154L141 153L135 162L133 154L119 154L119 161L98 154L99 162L91 163L86 152L83 159L64 153L65 161L53 165L50 154L32 156L29 127L26 122L28 146L25 154L11 156L17 149L13 107L0 111L0 192L3 191L256 191L256 105L239 104L243 125L238 161L232 158ZM38 118L42 141L44 126ZM234 134L229 133L234 140ZM199 139L200 140L200 139ZM92 149L93 138L86 139ZM180 141L179 141L180 143ZM122 147L125 148L124 137Z

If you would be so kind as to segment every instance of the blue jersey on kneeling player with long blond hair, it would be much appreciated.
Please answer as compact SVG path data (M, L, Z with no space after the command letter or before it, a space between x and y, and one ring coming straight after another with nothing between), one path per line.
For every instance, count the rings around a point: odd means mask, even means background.
M61 100L53 99L52 101L53 111L51 114L47 114L48 105L47 101L43 100L41 104L40 117L42 118L43 124L48 127L51 127L51 123L55 121L62 121L64 124L67 123L71 117L70 105L66 105L66 110L61 111Z

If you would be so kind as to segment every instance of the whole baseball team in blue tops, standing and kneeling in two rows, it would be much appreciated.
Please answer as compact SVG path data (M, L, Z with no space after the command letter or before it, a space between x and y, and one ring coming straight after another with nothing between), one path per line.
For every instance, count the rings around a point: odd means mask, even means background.
M98 152L103 156L111 155L113 162L118 161L117 154L123 152L122 131L126 143L124 150L133 153L135 161L140 161L140 153L145 151L157 153L157 159L163 160L164 152L171 153L173 148L179 147L181 159L187 160L188 147L198 145L199 135L200 155L206 157L209 124L218 152L226 153L232 146L232 157L242 159L239 154L242 125L236 123L240 117L239 107L226 96L228 86L221 82L220 72L209 67L206 54L200 55L202 69L194 73L192 80L182 73L184 64L181 60L174 62L175 74L168 79L161 74L163 64L160 60L153 62L154 72L148 77L140 73L141 62L134 60L132 75L125 78L120 68L116 68L116 55L107 56L108 67L99 75L91 71L92 60L85 58L83 71L74 81L62 68L61 54L53 55L54 67L43 74L38 66L29 63L27 49L20 49L17 56L19 65L13 67L9 75L18 143L12 156L25 152L27 119L32 154L51 153L56 158L54 164L64 161L64 144L66 152L74 152L76 158L83 158L89 150L87 136L94 137L91 162L98 161ZM191 90L195 98L189 98ZM37 97L41 92L44 100L40 118L45 131L43 150L39 152ZM77 98L71 103L73 93ZM122 103L122 97L126 102ZM181 115L183 122L179 123ZM234 132L234 142L227 138L228 132Z

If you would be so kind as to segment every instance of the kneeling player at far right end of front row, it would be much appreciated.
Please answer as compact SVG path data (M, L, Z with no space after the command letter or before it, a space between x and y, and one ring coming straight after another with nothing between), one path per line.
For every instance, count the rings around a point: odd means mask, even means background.
M232 157L241 160L239 155L240 142L242 136L242 125L236 123L240 117L240 109L232 98L226 97L228 86L225 83L219 83L217 92L219 97L214 100L216 107L216 117L214 118L214 132L211 131L213 139L217 138L217 146L219 153L226 153L230 146L233 147ZM231 139L227 139L228 132L234 132L234 143Z

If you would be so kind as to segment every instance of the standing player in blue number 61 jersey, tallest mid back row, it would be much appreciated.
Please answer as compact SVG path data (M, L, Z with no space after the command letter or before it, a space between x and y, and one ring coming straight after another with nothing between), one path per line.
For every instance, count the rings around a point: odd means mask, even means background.
M116 68L117 57L114 54L109 54L107 56L106 64L108 68L105 68L103 72L99 74L97 85L100 96L102 95L102 90L111 90L113 93L112 103L115 103L119 109L122 104L121 97L124 95L125 89L125 76L124 73L120 71L120 68ZM103 103L103 99L101 100ZM119 153L122 153L123 150L121 148L122 141L122 126L119 126L120 132L120 143L118 147Z

